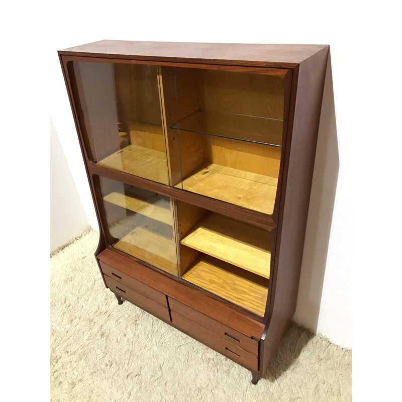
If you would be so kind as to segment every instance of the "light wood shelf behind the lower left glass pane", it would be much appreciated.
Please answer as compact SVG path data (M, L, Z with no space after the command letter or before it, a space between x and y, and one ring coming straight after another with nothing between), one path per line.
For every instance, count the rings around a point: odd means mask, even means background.
M172 225L171 211L155 204L147 203L146 201L130 197L120 192L111 192L104 197L104 200L167 225Z

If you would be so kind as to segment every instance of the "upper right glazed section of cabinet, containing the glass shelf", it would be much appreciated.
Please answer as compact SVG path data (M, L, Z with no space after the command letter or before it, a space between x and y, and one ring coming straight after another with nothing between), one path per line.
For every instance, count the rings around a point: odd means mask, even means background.
M272 214L284 92L280 77L175 68L178 188Z

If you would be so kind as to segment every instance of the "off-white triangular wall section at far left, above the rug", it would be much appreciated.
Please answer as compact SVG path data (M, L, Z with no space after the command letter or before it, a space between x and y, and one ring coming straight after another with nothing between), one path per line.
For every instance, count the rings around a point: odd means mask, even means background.
M50 121L50 251L88 226L81 199Z

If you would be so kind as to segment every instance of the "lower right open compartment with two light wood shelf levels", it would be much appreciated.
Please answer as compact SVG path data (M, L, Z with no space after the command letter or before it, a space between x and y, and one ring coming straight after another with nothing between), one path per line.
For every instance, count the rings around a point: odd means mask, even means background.
M271 262L270 233L177 200L180 276L260 316Z

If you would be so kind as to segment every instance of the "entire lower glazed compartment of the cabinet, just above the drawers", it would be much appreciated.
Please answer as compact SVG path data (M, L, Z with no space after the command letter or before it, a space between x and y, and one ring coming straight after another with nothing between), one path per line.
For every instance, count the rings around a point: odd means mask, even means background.
M102 176L97 181L112 247L264 315L268 231Z

